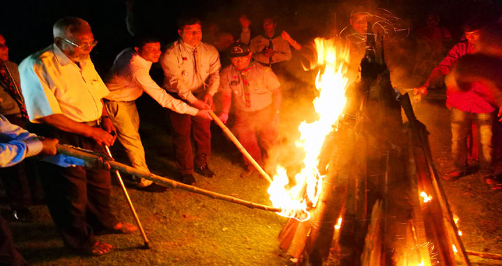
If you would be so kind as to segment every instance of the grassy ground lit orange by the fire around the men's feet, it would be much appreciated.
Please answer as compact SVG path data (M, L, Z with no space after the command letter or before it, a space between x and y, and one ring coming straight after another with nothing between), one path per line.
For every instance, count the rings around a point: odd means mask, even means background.
M288 106L285 103L285 106ZM141 134L147 162L153 173L174 178L167 115L147 97L138 102L142 114ZM430 132L434 164L439 173L452 165L448 110L441 102L420 102L418 119ZM155 115L153 115L155 114ZM294 119L297 112L283 114ZM235 150L218 128L213 127L213 155L209 165L215 178L196 175L197 187L270 205L266 180L254 175L240 178L242 166ZM119 162L127 162L121 148L112 150ZM128 176L124 176L127 180ZM458 215L462 240L469 251L502 253L502 199L500 191L490 191L473 174L455 182L441 180L453 212ZM130 183L129 183L130 185ZM152 248L142 249L139 233L103 235L99 239L114 246L114 251L99 258L77 256L68 249L56 232L44 205L31 208L36 221L10 224L18 250L30 265L293 265L278 247L277 234L287 219L264 210L218 201L188 191L169 189L162 194L128 190ZM134 223L118 185L112 191L113 210L121 219ZM473 265L501 265L500 260L469 257Z

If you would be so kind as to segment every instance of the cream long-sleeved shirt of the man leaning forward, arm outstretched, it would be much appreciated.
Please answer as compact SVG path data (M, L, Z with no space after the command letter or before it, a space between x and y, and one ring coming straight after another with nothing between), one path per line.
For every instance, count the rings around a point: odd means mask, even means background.
M174 99L160 88L150 76L152 62L139 56L132 48L124 49L116 56L109 77L105 79L110 93L105 98L113 101L133 101L145 91L162 107L172 109L179 114L195 116L198 109L185 102Z

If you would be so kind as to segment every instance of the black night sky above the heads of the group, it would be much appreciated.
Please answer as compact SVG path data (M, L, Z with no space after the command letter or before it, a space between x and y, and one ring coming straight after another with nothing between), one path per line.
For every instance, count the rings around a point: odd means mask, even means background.
M280 29L287 30L300 42L323 36L328 29L347 26L355 6L386 8L413 27L421 26L427 12L441 15L441 23L459 37L466 10L485 6L486 1L473 0L383 0L383 1L168 1L136 0L137 26L158 33L164 44L176 40L176 17L195 15L204 23L213 22L220 29L238 37L238 17L246 14L252 20L252 33L261 29L261 18L274 15ZM500 2L500 1L499 1ZM494 4L496 8L501 3ZM493 8L485 8L493 9ZM98 71L105 71L116 54L130 46L132 38L126 29L124 0L102 1L9 1L0 9L0 33L6 38L10 60L20 63L29 54L52 43L52 25L65 16L86 19L99 41L91 56ZM203 25L204 26L204 25Z

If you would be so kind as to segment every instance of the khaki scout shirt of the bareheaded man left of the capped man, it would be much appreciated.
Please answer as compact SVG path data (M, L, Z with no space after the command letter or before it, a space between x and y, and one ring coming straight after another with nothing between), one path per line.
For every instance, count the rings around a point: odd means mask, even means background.
M197 52L195 52L197 49ZM195 56L194 56L195 55ZM179 40L160 56L164 70L164 88L178 93L192 103L192 94L204 92L214 95L220 86L220 54L213 45L199 42L196 47Z

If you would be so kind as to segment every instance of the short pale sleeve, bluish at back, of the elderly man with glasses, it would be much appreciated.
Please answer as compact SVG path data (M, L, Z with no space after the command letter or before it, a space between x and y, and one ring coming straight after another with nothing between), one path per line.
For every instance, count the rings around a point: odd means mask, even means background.
M56 96L47 83L50 73L47 72L45 65L25 59L19 70L21 91L30 120L37 120L52 114L62 114Z

